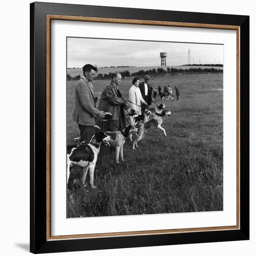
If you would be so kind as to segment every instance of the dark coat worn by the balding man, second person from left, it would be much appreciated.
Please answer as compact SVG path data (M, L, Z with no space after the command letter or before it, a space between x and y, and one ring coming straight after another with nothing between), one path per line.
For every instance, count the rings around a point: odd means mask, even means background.
M101 94L99 110L110 112L112 114L112 120L119 120L121 108L124 103L125 99L118 96L116 85L111 81Z

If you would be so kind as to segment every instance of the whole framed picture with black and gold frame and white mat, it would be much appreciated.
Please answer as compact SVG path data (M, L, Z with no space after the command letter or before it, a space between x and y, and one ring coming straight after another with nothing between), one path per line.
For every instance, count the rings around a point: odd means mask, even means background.
M30 251L248 240L249 16L30 20Z

